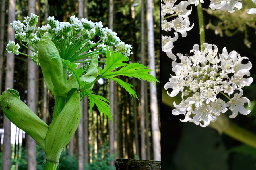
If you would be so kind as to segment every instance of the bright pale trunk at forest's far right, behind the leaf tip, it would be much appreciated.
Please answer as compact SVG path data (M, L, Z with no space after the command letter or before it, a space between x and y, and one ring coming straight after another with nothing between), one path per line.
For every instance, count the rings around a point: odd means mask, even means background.
M147 0L147 26L148 26L148 58L149 58L149 73L156 77L155 73L155 56L154 56L154 30L153 30L153 4L152 0ZM159 139L159 120L156 87L150 83L150 110L151 110L151 127L154 160L161 160L160 154L160 139Z

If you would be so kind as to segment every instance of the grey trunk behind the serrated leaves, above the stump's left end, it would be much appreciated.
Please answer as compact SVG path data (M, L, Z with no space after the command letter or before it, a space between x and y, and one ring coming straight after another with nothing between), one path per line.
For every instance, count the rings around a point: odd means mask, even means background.
M108 17L108 25L109 28L113 30L113 16L114 16L114 11L113 11L114 5L113 5L113 0L109 0L109 17ZM110 80L109 83L109 93L110 93L110 112L112 115L112 119L115 119L115 103L114 103L114 82L113 80ZM114 129L113 129L113 122L109 119L109 154L112 155L114 154ZM110 166L114 166L114 160L110 161Z

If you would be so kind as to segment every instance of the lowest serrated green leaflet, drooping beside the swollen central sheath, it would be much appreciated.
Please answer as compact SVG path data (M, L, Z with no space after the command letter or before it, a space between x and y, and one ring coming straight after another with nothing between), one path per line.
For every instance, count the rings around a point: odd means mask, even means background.
M88 100L90 101L90 110L92 111L92 107L94 104L98 107L98 110L103 112L104 115L107 115L108 118L113 122L111 113L110 113L110 105L108 105L106 102L110 103L107 99L105 99L102 96L93 94L92 90L84 89L84 93L88 95Z

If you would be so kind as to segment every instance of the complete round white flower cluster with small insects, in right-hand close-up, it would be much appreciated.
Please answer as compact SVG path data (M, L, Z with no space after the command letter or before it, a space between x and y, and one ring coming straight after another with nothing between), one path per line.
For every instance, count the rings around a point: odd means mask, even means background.
M182 122L194 122L202 127L216 121L216 116L228 108L232 111L230 118L235 118L238 112L249 114L250 110L245 109L244 104L248 103L250 107L251 102L242 97L242 88L253 82L251 77L244 78L250 76L251 62L243 64L242 61L248 58L241 57L236 51L228 53L226 47L222 54L216 45L204 43L204 47L201 51L195 44L190 51L193 56L177 54L180 63L172 62L175 75L171 75L164 88L172 89L171 93L167 92L171 97L182 93L182 101L178 105L174 102L176 109L172 113L183 114ZM227 102L220 98L223 95Z

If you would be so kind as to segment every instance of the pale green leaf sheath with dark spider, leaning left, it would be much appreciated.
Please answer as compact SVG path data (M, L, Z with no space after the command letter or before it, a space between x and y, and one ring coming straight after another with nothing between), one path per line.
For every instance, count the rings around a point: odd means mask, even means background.
M49 126L36 116L15 94L3 92L1 103L5 116L18 128L35 139L44 150L44 138Z

